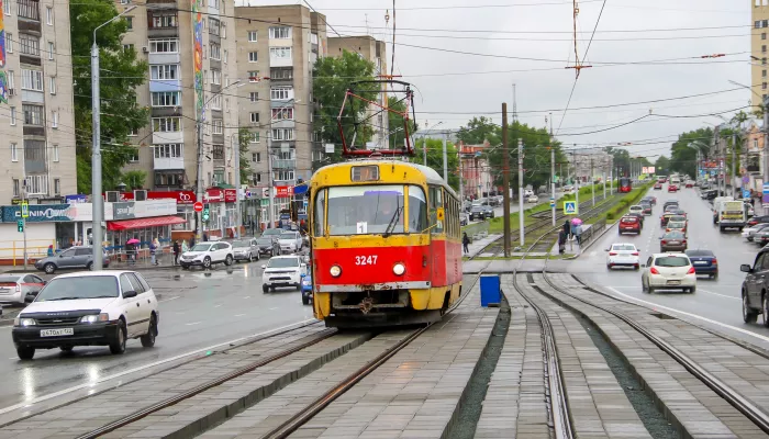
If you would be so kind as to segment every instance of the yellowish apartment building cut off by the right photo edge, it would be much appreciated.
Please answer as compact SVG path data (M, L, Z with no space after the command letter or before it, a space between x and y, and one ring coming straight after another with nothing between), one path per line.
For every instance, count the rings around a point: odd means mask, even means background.
M769 0L749 0L753 11L754 29L750 35L750 93L751 103L760 106L769 93L767 57L769 57Z

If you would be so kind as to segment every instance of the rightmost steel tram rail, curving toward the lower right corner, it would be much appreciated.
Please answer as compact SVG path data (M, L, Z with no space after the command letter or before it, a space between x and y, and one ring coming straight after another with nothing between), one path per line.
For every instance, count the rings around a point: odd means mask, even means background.
M673 360L676 360L679 364L681 364L692 375L696 376L700 381L702 381L703 384L705 384L713 392L718 394L718 396L721 396L722 398L726 399L729 404L732 404L732 406L734 408L736 408L743 415L745 415L748 419L750 419L758 428L764 430L764 432L769 434L769 414L767 414L760 407L753 404L749 399L742 396L738 392L736 392L734 389L732 389L728 384L724 383L718 378L716 378L715 375L713 375L712 373L706 371L696 361L692 360L687 354L684 354L683 352L681 352L680 350L675 348L672 345L670 345L669 342L667 342L662 338L656 336L654 333L646 329L644 326L638 324L633 318L626 316L625 314L623 314L618 311L610 309L605 306L590 303L587 300L579 297L579 296L576 296L576 295L567 292L565 289L557 286L547 275L547 263L545 264L545 268L543 269L542 274L543 274L545 281L550 285L550 288L558 291L559 293L565 294L573 300L577 300L586 305L589 305L589 306L592 306L594 308L601 309L605 313L609 313L609 314L613 315L614 317L621 319L625 324L629 325L633 329L635 329L636 331L642 334L649 341L651 341L655 346L657 346L659 349L661 349L664 352L666 352L668 356L670 356ZM545 293L545 294L547 294L547 293ZM550 296L550 299L557 300L556 297L553 297L549 294L547 294L547 295Z

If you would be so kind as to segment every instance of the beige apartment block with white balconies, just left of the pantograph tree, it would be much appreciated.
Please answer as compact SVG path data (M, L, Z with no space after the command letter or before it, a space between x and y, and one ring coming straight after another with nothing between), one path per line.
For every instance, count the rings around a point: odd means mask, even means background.
M326 54L325 16L299 4L238 7L235 15L253 19L235 23L238 78L246 83L238 89L239 124L250 132L248 185L265 193L272 183L274 214L279 218L293 199L289 188L310 178L313 154L320 158L312 70ZM258 215L263 224L269 218L269 190L265 195Z

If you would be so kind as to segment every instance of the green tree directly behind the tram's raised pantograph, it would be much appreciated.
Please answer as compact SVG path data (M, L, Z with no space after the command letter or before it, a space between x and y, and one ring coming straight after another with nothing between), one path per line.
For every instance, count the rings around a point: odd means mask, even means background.
M328 162L337 162L342 159L342 135L336 124L336 117L339 115L339 108L345 100L345 93L355 81L374 80L374 63L359 57L357 54L343 50L341 57L322 57L315 61L313 70L313 98L320 104L315 120L314 130L320 132L321 139L326 144L337 146L336 153L327 156L323 165ZM371 91L372 86L364 87L365 90L358 91L356 94L368 99L376 100L377 92ZM368 103L359 99L348 99L342 114L343 130L345 138L348 142L348 147L365 145L371 138L372 121L366 120L366 110ZM350 145L353 136L355 145ZM313 164L317 166L320 164Z

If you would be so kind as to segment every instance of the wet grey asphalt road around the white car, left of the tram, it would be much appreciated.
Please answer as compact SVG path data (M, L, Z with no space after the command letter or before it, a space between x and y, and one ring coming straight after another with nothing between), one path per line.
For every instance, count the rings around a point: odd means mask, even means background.
M0 327L0 415L54 392L135 368L149 371L149 365L180 354L312 318L312 307L302 305L299 291L263 293L263 263L264 259L210 272L143 271L161 295L160 334L152 349L130 340L122 356L110 354L107 347L78 347L71 354L38 350L33 361L20 361L11 328Z

